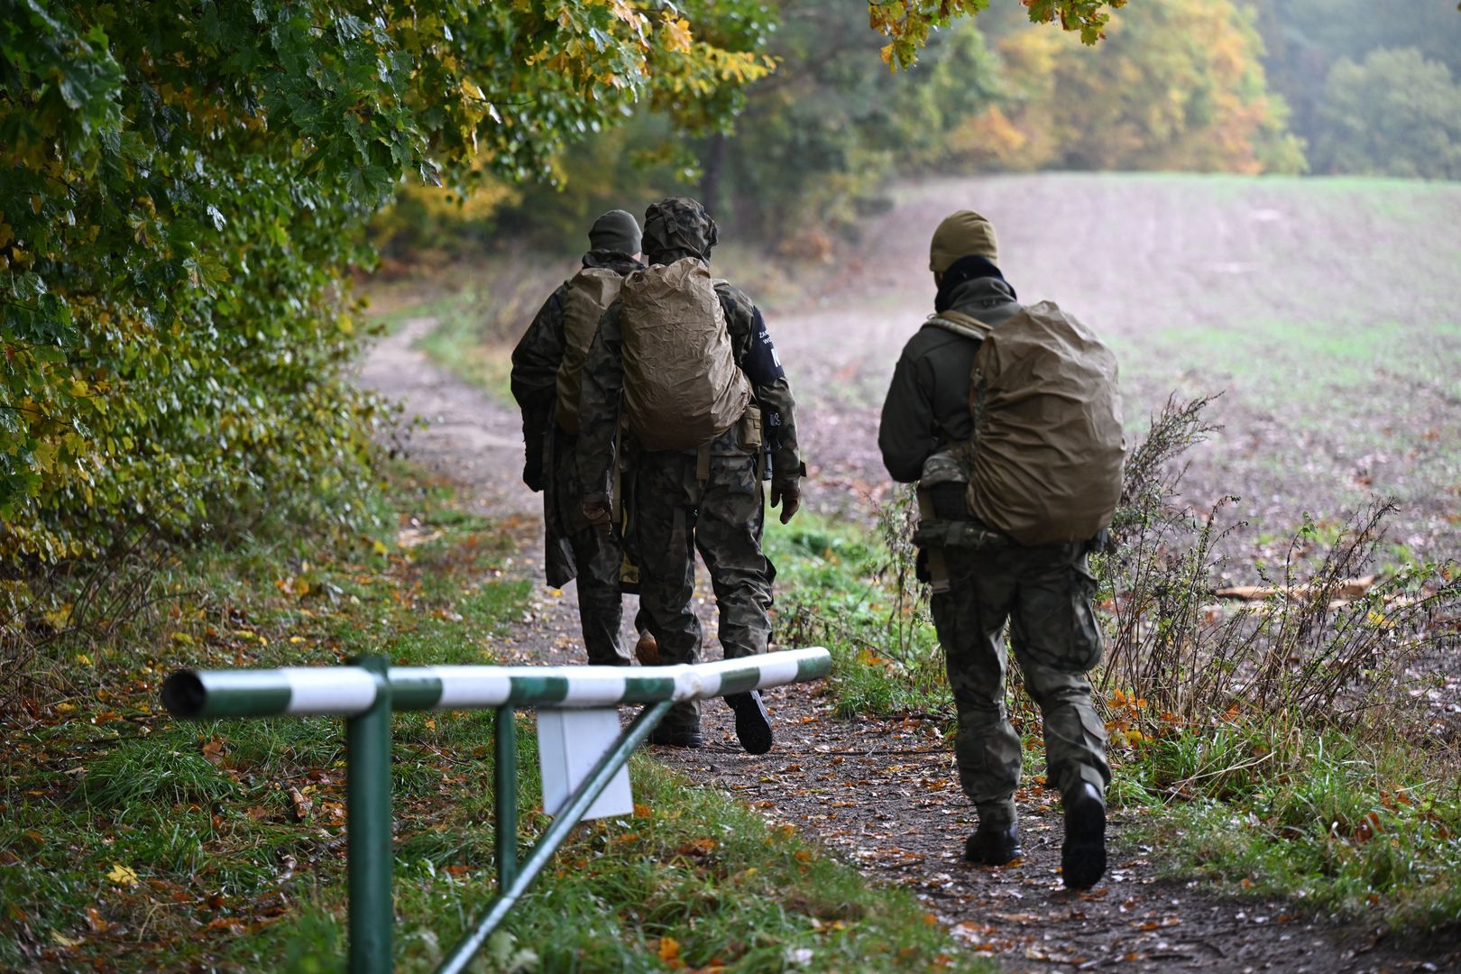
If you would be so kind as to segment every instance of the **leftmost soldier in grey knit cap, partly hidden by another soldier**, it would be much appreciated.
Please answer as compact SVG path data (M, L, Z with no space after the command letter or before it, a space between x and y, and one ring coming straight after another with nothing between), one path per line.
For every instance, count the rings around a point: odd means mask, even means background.
M631 213L609 210L589 229L584 267L608 267L628 275L640 263L640 228ZM561 588L577 575L579 621L589 663L628 666L619 641L622 594L619 567L624 558L615 534L595 530L580 508L583 489L576 463L579 438L555 421L558 367L562 364L564 299L568 283L558 286L538 311L513 349L513 397L523 410L526 463L523 483L543 492L545 572ZM653 643L643 619L636 619L641 644Z

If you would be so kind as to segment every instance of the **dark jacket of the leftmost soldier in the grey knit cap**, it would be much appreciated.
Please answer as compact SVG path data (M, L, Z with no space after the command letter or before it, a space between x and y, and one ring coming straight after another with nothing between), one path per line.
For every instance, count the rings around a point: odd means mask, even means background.
M583 266L609 267L621 275L643 267L633 257L606 250L590 250L583 256ZM552 473L543 470L543 451L558 402L558 367L564 353L562 298L567 291L568 282L564 282L548 295L513 349L513 399L523 410L523 482L533 491L543 489Z

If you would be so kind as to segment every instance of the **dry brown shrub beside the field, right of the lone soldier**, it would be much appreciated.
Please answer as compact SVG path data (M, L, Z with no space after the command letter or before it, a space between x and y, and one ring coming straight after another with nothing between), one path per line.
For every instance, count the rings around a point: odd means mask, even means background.
M1216 542L1232 530L1218 527L1230 498L1205 517L1169 499L1180 454L1213 429L1202 419L1210 402L1169 400L1131 454L1112 543L1096 559L1110 621L1102 689L1121 688L1188 726L1249 711L1350 730L1382 714L1386 729L1404 730L1413 701L1455 675L1461 572L1411 565L1360 581L1397 511L1381 501L1350 515L1305 577L1300 555L1319 543L1311 521L1280 578L1265 577L1236 609L1220 603L1211 580L1223 568ZM1433 732L1430 723L1423 716L1408 729Z

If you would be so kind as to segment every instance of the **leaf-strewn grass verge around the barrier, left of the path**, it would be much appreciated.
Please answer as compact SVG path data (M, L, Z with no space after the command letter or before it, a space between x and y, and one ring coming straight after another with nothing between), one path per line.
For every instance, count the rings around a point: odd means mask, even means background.
M492 662L529 583L517 539L440 485L397 476L381 530L264 524L165 567L156 612L58 651L64 692L4 716L0 968L340 970L342 723L180 723L158 685L186 664ZM524 843L538 803L520 716ZM492 894L492 717L394 720L396 961L427 970ZM583 825L481 970L985 970L901 891L646 756L636 815Z

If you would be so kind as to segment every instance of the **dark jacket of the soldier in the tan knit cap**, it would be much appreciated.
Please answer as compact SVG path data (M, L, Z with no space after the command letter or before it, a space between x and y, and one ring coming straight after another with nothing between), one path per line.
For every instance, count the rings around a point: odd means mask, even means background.
M1004 280L976 277L954 291L951 310L999 324L1020 307ZM928 324L903 346L878 423L882 466L894 480L918 480L929 456L973 435L969 377L977 350L977 340Z

